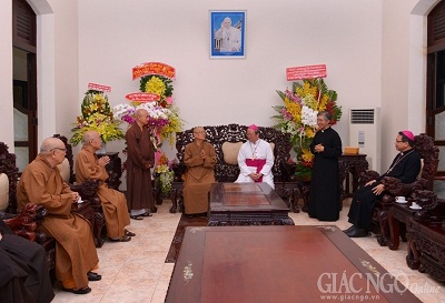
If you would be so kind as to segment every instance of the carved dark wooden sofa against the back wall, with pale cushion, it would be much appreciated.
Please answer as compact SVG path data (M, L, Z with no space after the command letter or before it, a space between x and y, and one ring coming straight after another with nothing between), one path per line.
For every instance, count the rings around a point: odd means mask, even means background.
M217 163L215 165L215 178L217 182L234 182L239 174L237 156L239 148L246 139L246 125L228 124L217 127L204 127L206 131L206 140L211 143L217 154ZM298 198L300 198L300 189L303 184L295 180L296 164L289 163L290 158L290 139L288 133L283 133L274 128L259 128L259 138L274 143L274 182L275 191L284 199L294 212L299 212L297 206ZM184 164L184 152L186 145L194 141L192 129L178 132L176 134L176 149L178 164L174 166L175 181L170 199L172 206L170 212L176 212L179 206L182 211L182 180L181 175L186 171Z

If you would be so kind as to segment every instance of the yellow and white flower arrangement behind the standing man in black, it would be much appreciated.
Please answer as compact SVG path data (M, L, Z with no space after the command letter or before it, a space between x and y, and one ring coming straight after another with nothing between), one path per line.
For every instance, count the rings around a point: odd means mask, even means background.
M322 78L294 82L291 90L277 93L284 105L273 107L278 112L271 117L277 121L274 128L290 134L290 143L297 153L296 175L310 178L314 155L309 144L317 131L317 114L328 111L333 117L332 125L339 121L342 107L336 104L337 93L329 90Z

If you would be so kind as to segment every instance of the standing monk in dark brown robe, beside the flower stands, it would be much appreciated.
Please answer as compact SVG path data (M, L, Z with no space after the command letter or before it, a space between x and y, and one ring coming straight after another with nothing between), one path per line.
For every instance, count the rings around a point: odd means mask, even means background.
M151 190L151 172L155 150L147 128L149 115L144 109L136 111L136 122L127 130L127 203L131 219L151 216L155 198Z

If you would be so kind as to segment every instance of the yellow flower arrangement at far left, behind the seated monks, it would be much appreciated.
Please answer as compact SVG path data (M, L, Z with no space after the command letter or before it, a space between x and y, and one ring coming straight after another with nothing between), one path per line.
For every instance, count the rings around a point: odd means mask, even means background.
M77 117L76 123L72 123L70 142L73 145L79 144L87 131L99 132L105 143L122 139L120 123L113 118L107 95L101 91L88 90L81 104L81 115Z

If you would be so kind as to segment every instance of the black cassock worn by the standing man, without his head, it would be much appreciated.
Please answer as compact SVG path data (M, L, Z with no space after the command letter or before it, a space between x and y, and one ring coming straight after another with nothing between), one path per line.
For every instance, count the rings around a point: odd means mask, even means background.
M323 144L323 152L314 148ZM338 156L342 155L342 139L338 133L328 128L318 131L310 151L315 154L309 190L309 216L320 221L337 221L339 216L340 186L338 173Z

